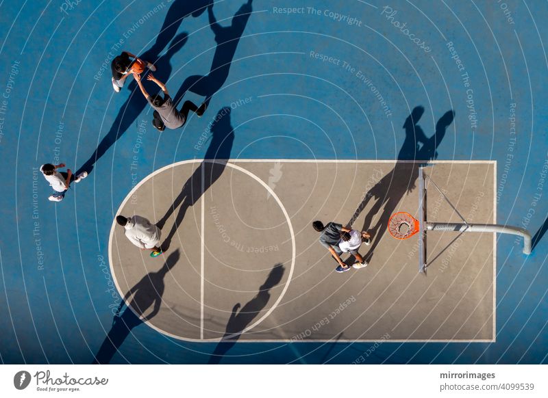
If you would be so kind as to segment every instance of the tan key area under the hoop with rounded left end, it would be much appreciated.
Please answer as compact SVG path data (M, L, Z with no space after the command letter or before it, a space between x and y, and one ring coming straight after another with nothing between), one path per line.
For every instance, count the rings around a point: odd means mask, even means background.
M493 341L495 235L429 233L425 276L418 272L417 239L398 241L386 230L387 215L418 211L419 164L211 160L166 166L136 185L119 213L160 220L182 191L194 204L181 204L184 219L160 258L136 250L114 223L116 286L123 297L180 257L164 274L160 309L147 323L182 340L377 341L388 334L395 341ZM436 162L426 170L469 222L493 224L494 162ZM455 220L440 198L427 190L428 220ZM181 207L165 222L163 236ZM334 272L336 263L312 229L316 219L353 220L353 228L371 230L371 247L360 250L368 267ZM153 283L143 289L135 294L160 290ZM132 305L143 317L153 310L138 300Z

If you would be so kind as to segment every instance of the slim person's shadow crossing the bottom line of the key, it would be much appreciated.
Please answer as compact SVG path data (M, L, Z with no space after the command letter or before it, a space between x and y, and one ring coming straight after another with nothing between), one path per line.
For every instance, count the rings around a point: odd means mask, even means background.
M241 309L240 303L237 303L234 308L232 308L232 314L228 320L225 334L223 335L221 342L215 347L213 354L211 354L208 362L209 364L218 364L221 362L221 358L223 358L227 351L236 344L242 335L242 330L247 328L249 323L251 323L251 321L253 321L253 319L255 319L263 310L266 304L268 304L271 297L270 289L282 281L284 271L284 265L274 265L269 276L264 281L264 284L259 288L257 295ZM240 309L239 312L238 309Z

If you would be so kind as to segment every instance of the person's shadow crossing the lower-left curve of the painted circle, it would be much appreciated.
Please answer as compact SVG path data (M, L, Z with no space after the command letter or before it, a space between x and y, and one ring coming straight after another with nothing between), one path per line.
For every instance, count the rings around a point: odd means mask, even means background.
M112 319L112 328L108 332L99 351L95 354L93 364L108 364L133 328L158 315L165 289L164 278L177 264L179 257L179 250L175 250L167 258L162 268L143 276L132 289L129 289L125 293L117 313L114 315L114 319ZM120 315L124 303L129 300L129 297L132 297L132 300L127 304L127 308L123 314ZM145 315L151 307L151 312Z

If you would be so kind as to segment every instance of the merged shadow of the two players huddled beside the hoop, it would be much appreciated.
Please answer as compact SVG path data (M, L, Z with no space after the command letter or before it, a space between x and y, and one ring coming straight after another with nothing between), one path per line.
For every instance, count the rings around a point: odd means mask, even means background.
M426 164L438 157L438 146L445 137L447 127L453 122L454 112L447 111L436 123L436 131L432 137L427 137L423 129L417 124L423 116L424 108L415 107L403 124L406 129L406 139L399 150L397 162L393 170L380 179L365 195L364 200L358 206L348 223L351 226L360 213L367 207L369 201L375 199L371 211L365 216L362 230L371 233L373 242L369 252L364 256L366 261L371 261L375 248L386 231L390 215L395 211L397 204L403 196L415 188L416 179L419 178L419 166ZM410 163L407 161L425 161L425 163ZM384 209L383 209L384 208ZM371 226L373 217L382 210L377 223Z

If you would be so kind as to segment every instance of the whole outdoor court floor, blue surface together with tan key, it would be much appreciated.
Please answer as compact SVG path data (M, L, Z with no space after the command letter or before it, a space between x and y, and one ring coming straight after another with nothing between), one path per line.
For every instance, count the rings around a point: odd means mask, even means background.
M0 361L547 363L547 18L533 0L0 1ZM153 63L179 107L207 103L203 117L158 132L133 77L113 90L122 51ZM429 161L459 165L436 183L464 215L490 178L485 220L530 230L532 254L491 234L475 241L479 261L443 235L445 268L418 274L416 257L398 256L414 242L371 214L369 267L336 274L311 223L344 224L370 197L385 215L416 211L399 207L416 203L414 181L385 184L395 201L377 183ZM89 175L51 202L44 163ZM162 200L184 207L162 236L182 227L149 258L113 220L130 209L159 222ZM255 237L249 256L220 256L219 220L233 239ZM480 262L488 282L468 286ZM438 295L419 294L431 284ZM419 312L386 302L409 291ZM447 320L419 329L438 303ZM350 316L358 308L369 312Z

